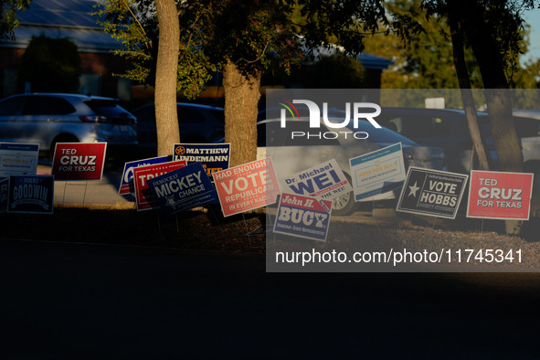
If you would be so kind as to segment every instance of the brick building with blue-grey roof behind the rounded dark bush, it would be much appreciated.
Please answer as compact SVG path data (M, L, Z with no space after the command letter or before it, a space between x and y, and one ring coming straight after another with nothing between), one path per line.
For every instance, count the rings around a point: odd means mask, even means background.
M130 100L131 81L112 75L126 69L125 60L111 53L122 48L122 43L103 31L97 16L90 15L96 11L96 3L95 0L33 0L26 11L18 11L20 25L16 27L15 40L0 44L0 97L16 92L21 56L32 37L45 35L68 37L77 44L82 65L80 93Z

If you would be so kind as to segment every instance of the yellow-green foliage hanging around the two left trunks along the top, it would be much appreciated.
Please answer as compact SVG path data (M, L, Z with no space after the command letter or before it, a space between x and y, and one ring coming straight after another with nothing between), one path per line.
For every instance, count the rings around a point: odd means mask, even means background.
M186 0L177 6L178 84L187 95L195 95L228 61L246 75L290 74L304 54L310 56L320 47L338 46L345 55L358 54L365 36L388 23L383 3L373 0ZM123 76L152 85L158 41L153 2L108 0L99 9L96 15L106 31L126 46L117 53L132 60L132 69ZM395 21L400 37L421 30L407 19Z

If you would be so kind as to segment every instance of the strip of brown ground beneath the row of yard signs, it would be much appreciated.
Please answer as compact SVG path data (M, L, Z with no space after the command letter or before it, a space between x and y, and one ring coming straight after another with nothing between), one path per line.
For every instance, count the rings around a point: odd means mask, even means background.
M129 206L127 206L129 207ZM540 221L524 223L521 236L504 235L503 221L434 217L335 217L326 243L288 238L291 249L306 242L317 249L522 249L524 269L540 269ZM376 213L374 213L376 214ZM55 206L53 215L0 214L0 238L85 242L264 253L267 220L250 213L222 217L219 207L199 207L177 217L117 206Z

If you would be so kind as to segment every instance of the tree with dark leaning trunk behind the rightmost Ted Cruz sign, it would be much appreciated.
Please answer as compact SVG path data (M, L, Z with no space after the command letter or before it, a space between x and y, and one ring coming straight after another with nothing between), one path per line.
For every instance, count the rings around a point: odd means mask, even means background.
M428 14L448 19L452 26L452 38L462 37L462 44L471 47L482 73L499 169L522 172L523 154L512 116L508 74L517 69L517 54L523 38L523 11L531 9L535 2L454 0L425 1L424 5ZM462 45L459 43L459 46ZM468 74L458 75L464 78ZM478 147L476 143L475 147ZM508 233L520 231L520 222L506 220L505 224Z

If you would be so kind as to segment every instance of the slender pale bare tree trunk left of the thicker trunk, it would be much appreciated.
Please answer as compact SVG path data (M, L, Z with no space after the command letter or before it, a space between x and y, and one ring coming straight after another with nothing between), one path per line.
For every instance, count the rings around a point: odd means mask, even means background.
M180 25L175 0L155 0L159 22L159 45L155 69L155 122L157 154L173 154L175 143L180 143L176 112L176 78Z

